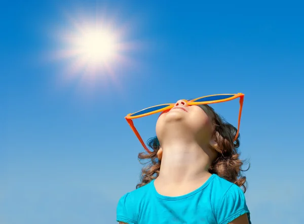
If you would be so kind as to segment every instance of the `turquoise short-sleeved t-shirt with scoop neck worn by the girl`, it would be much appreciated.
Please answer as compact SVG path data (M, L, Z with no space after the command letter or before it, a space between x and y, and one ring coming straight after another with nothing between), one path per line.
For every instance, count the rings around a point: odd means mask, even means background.
M197 190L178 197L160 195L154 181L124 195L117 206L117 221L129 224L227 224L250 215L241 188L212 174Z

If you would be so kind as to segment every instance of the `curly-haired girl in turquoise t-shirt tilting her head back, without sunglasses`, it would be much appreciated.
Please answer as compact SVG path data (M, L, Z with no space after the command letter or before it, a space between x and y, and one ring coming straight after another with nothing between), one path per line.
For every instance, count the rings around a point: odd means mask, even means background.
M124 195L117 221L128 224L248 224L246 177L234 141L237 128L208 105L179 100L163 112L137 189Z

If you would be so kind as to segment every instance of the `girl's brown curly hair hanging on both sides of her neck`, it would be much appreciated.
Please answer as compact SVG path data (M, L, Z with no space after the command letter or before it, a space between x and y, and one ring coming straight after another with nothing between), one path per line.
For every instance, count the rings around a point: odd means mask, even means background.
M200 107L212 120L214 126L213 138L217 142L220 150L217 158L209 167L209 172L217 174L225 180L242 187L245 193L247 182L246 177L243 175L243 171L247 171L249 167L246 170L241 168L244 161L240 159L240 153L238 151L240 136L238 136L236 141L233 141L237 133L237 128L215 113L212 107L208 105L202 105ZM138 154L139 162L141 164L146 164L146 166L141 170L140 183L136 186L136 189L156 179L160 172L161 161L157 158L160 143L157 137L149 139L147 145L151 149L151 153L142 152ZM147 160L147 162L142 162L143 160Z

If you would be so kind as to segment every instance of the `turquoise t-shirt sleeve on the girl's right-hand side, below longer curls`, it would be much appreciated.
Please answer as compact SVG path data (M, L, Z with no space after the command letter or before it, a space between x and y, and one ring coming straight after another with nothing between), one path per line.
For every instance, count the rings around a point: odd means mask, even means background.
M244 192L235 184L225 193L216 210L218 224L227 224L245 213L249 218Z

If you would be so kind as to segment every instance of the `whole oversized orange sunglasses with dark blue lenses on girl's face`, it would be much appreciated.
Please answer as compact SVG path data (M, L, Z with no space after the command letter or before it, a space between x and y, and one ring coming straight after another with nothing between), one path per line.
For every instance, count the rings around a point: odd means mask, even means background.
M241 122L241 115L242 115L242 108L243 108L243 101L244 101L244 94L216 94L216 95L209 95L205 97L199 97L194 100L189 100L186 101L188 106L193 106L193 105L204 105L204 104L215 104L215 103L221 103L221 102L226 102L226 101L231 101L234 99L240 98L240 110L239 110L239 119L238 119L238 129L237 133L235 136L234 141L237 140L239 136L239 129L240 129L240 122ZM134 131L135 135L137 136L139 142L143 146L143 148L150 153L151 151L147 148L147 146L144 144L142 138L140 137L138 131L136 130L132 119L148 116L151 114L156 114L160 113L163 111L168 111L171 108L173 108L175 103L172 104L160 104L156 105L153 107L148 107L143 110L137 111L135 113L128 114L125 118L128 122L128 124L131 126L132 130Z

